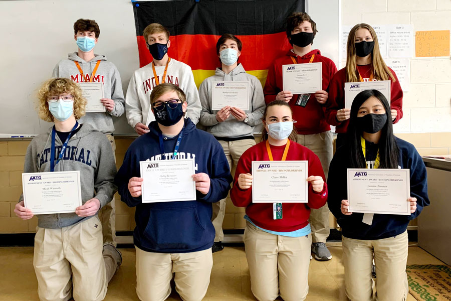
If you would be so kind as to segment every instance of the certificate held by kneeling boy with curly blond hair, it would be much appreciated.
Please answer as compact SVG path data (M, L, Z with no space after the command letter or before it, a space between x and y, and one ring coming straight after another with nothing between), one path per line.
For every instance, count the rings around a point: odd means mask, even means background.
M80 171L22 174L24 203L33 214L75 212L82 205Z

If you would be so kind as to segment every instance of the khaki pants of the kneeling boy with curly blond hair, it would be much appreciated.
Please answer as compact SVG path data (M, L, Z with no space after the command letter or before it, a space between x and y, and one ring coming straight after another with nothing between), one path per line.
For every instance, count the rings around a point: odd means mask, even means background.
M103 300L117 262L102 256L102 225L97 216L78 224L37 228L33 266L42 301Z

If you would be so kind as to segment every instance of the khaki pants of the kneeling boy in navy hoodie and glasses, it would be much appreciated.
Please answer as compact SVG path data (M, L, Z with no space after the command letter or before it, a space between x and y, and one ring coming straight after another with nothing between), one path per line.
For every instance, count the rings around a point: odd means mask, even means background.
M136 247L136 293L141 301L163 301L175 289L183 301L200 301L210 283L211 248L189 253L154 253Z

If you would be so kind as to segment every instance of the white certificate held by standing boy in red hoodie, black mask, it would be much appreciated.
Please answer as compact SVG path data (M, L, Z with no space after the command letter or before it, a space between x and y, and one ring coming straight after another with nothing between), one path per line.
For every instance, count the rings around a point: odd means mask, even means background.
M284 91L293 94L309 94L323 89L323 64L282 65Z

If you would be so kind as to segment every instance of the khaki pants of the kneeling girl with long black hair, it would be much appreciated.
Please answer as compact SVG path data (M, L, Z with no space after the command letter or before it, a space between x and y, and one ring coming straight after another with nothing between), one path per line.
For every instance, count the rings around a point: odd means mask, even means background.
M407 231L377 240L359 240L343 236L345 291L351 301L403 301L408 283ZM371 267L376 265L376 295L373 296Z

